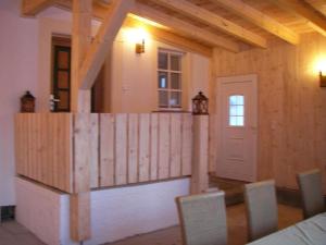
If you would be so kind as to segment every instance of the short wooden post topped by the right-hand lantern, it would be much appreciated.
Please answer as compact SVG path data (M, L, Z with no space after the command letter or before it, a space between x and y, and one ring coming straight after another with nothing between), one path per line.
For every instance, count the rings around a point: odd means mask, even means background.
M209 188L209 115L193 115L193 149L190 193Z

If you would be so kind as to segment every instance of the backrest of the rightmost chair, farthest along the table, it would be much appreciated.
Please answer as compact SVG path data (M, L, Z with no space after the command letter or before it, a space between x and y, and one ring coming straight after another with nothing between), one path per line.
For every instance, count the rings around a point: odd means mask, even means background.
M325 211L321 171L314 169L299 173L297 181L301 193L304 219Z

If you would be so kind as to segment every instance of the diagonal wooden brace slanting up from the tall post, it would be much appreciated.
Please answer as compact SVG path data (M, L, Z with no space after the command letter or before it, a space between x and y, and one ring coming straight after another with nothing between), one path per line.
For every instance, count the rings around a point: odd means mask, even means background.
M95 37L80 69L79 88L90 89L103 64L108 46L111 46L126 15L135 7L134 0L114 0Z

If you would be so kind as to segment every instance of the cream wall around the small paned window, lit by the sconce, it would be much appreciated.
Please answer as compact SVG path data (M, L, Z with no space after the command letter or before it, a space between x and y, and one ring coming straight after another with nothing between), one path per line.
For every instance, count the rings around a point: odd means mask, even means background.
M158 49L164 48L184 53L183 59L183 105L191 110L191 98L199 90L209 94L210 59L200 54L185 52L178 48L146 39L145 53L135 53L135 44L127 39L122 29L112 52L110 78L105 81L105 112L141 113L158 110Z

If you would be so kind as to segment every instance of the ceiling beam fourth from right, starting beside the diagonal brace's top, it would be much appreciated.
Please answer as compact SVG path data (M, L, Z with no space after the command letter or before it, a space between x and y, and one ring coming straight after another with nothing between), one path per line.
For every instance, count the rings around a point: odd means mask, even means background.
M136 4L135 11L133 11L133 13L138 16L146 17L159 24L171 27L177 32L184 33L185 35L190 36L191 38L208 42L210 44L210 46L222 47L233 52L240 51L239 45L235 41L220 37L198 26L191 25L185 21L164 14L148 5L138 3Z

